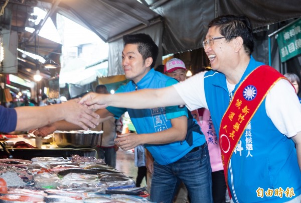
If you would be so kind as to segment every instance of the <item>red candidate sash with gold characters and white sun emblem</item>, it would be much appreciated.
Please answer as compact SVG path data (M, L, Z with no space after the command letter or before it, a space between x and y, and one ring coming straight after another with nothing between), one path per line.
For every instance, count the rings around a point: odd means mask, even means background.
M224 175L228 185L228 164L244 130L268 91L279 79L286 79L274 68L262 65L253 70L234 93L234 97L223 116L219 131ZM228 187L229 195L230 190Z

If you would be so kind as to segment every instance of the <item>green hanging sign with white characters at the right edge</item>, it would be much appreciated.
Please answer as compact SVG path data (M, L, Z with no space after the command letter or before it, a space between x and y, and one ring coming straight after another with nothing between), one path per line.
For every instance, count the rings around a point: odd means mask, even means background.
M280 59L284 62L301 53L301 19L276 34Z

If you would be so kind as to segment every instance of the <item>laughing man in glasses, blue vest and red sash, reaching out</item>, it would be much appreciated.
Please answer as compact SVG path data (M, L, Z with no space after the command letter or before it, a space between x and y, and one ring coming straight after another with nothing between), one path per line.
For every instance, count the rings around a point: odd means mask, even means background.
M231 201L301 202L301 107L293 86L251 56L248 18L221 16L208 27L203 46L213 70L162 89L90 94L81 102L90 108L209 109L213 125L220 127Z

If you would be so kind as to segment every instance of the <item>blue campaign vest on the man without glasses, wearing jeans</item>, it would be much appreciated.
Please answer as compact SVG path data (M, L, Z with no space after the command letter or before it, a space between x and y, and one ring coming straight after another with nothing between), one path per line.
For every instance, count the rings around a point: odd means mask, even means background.
M175 83L177 83L176 79L166 76L154 69L150 69L137 84L130 81L126 85L118 88L116 93L144 88L162 88ZM144 145L152 154L155 161L161 165L178 161L194 147L201 146L206 142L205 136L201 133L196 120L194 120L191 115L188 116L186 107L180 108L179 106L174 106L142 110L107 107L106 109L114 114L115 117L120 117L127 111L138 134L167 130L172 127L170 119L184 115L188 117L186 140L161 145Z

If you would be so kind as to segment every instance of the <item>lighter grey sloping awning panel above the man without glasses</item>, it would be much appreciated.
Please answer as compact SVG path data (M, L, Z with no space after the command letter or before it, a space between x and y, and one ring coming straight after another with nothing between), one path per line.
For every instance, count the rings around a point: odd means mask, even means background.
M160 17L136 0L60 1L56 12L90 29L104 42L141 24L149 26Z

